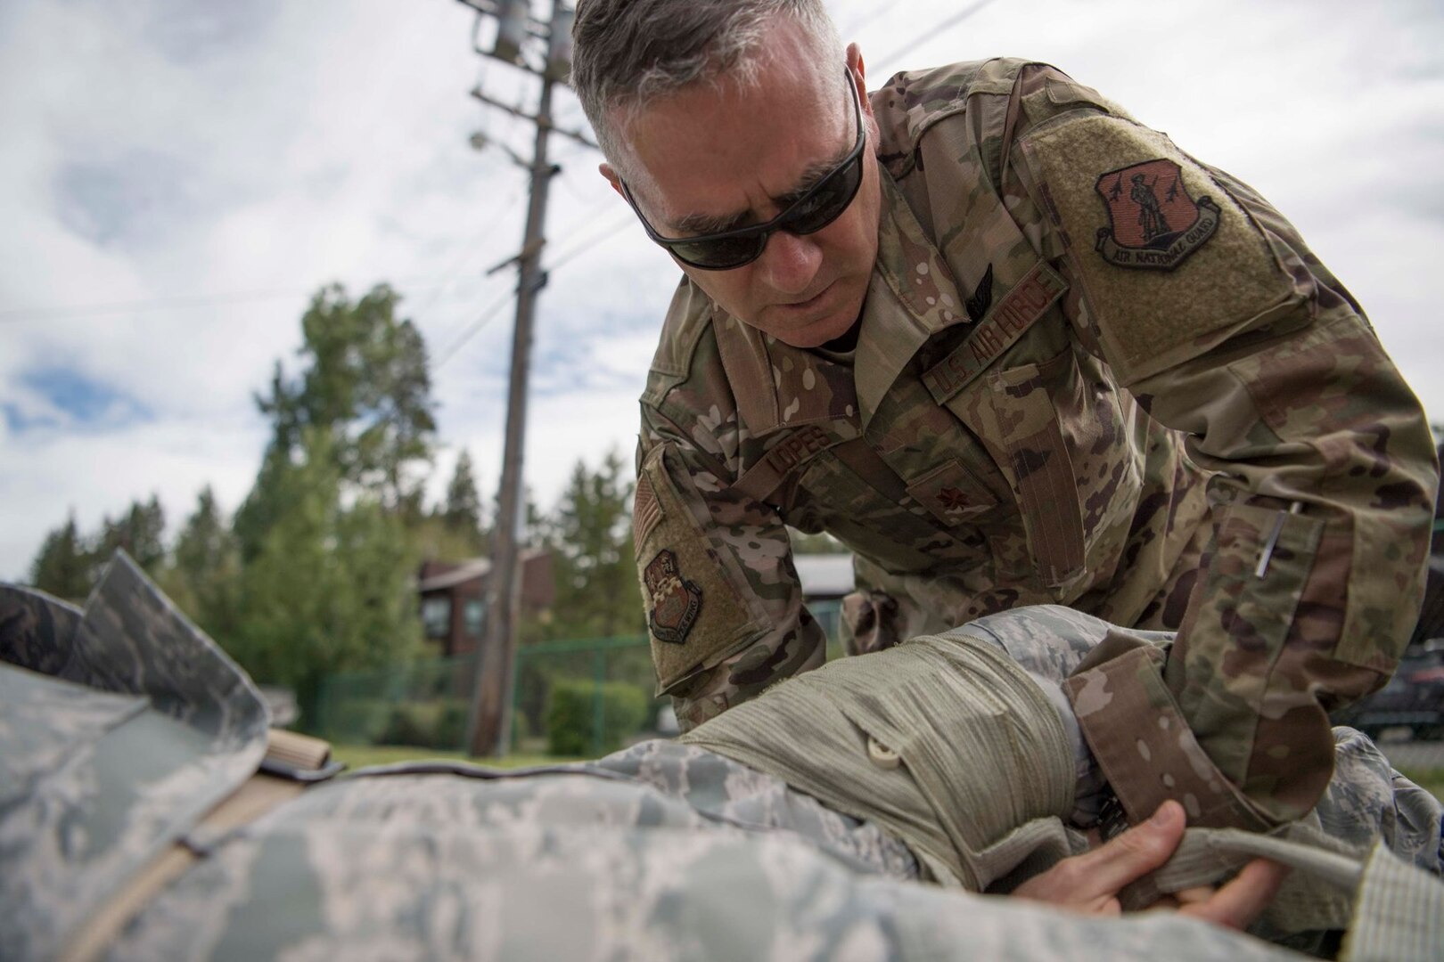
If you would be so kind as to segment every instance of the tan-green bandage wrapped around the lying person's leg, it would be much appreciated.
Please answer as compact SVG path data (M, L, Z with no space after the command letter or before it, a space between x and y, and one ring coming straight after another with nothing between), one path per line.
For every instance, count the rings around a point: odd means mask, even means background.
M683 741L901 838L931 878L983 891L1080 851L1063 718L1005 650L923 636L832 662Z

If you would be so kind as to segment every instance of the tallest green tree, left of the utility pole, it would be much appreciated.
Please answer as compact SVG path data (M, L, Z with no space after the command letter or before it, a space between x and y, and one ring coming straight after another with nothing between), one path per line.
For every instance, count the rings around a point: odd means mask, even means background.
M280 363L257 407L271 441L235 518L240 606L231 653L302 698L336 671L409 659L420 622L410 528L432 453L426 345L399 296L319 291L302 317L302 369ZM180 558L178 557L178 567Z

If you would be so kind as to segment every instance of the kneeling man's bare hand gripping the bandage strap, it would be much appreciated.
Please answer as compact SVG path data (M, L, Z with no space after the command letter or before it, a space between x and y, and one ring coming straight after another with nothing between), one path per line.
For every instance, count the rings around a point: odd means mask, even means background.
M1012 894L1083 914L1116 916L1122 912L1118 893L1168 861L1183 841L1184 826L1183 806L1164 802L1142 825L1129 828L1093 851L1064 858L1018 886ZM1177 909L1178 914L1243 929L1268 907L1287 873L1282 865L1255 860L1219 888L1186 888L1152 907Z

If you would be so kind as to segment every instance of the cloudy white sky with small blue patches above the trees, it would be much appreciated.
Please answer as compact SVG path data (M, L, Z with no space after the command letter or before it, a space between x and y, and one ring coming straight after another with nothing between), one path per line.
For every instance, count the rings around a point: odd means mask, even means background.
M1444 421L1444 9L1430 0L832 0L871 84L1017 55L1057 63L1269 196L1370 313ZM540 7L540 3L539 3ZM293 363L309 296L387 281L435 359L445 447L500 473L534 100L478 56L455 0L0 3L0 578L74 511L159 493L228 509L266 440L251 392ZM585 124L569 92L562 125ZM553 140L526 476L630 460L676 281Z

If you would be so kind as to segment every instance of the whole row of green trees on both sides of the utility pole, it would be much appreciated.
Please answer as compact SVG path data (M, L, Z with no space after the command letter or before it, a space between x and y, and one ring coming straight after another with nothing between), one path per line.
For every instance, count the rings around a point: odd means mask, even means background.
M234 516L209 486L169 539L155 496L94 532L72 512L46 535L30 583L82 603L123 548L258 682L303 701L331 672L426 655L419 567L485 555L492 512L465 450L445 498L426 503L436 402L425 339L399 303L386 284L312 297L295 374L277 359L254 395L270 438ZM524 542L552 551L556 604L523 626L524 642L644 630L632 489L631 466L612 453L596 467L578 462L552 511L527 500Z

